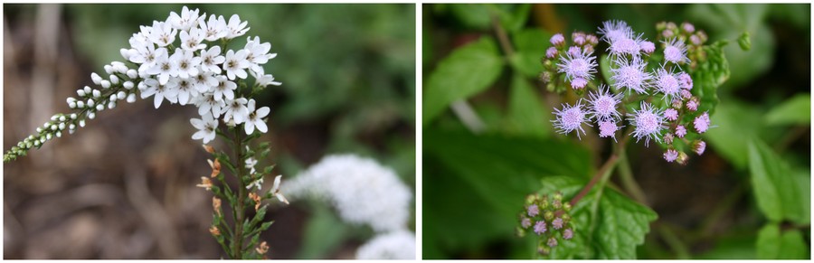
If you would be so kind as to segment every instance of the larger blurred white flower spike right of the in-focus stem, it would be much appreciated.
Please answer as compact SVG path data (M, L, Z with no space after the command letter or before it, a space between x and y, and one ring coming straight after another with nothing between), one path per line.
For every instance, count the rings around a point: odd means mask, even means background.
M344 221L379 232L403 229L411 213L412 191L393 169L356 155L328 155L283 186L290 198L326 199Z

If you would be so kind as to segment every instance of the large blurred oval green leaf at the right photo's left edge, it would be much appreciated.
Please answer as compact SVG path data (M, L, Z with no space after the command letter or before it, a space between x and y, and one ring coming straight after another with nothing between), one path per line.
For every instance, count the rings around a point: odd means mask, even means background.
M430 73L424 94L423 124L437 117L451 102L487 89L500 76L503 60L491 37L481 37L453 51Z

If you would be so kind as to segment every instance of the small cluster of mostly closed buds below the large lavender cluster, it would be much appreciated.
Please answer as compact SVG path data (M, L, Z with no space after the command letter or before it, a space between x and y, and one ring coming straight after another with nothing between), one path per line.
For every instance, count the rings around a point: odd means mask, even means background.
M573 239L571 209L571 203L563 201L563 193L554 193L551 197L529 194L523 211L518 214L517 235L523 237L527 232L534 233L538 237L537 253L548 255L559 244L557 240Z

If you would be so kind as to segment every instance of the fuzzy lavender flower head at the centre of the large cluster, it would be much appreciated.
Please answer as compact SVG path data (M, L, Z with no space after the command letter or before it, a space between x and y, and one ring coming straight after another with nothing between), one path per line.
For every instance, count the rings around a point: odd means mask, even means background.
M647 93L649 80L653 76L645 70L646 62L638 58L628 61L624 57L617 58L615 62L620 65L619 68L611 68L611 80L616 83L616 89L627 88L637 93Z

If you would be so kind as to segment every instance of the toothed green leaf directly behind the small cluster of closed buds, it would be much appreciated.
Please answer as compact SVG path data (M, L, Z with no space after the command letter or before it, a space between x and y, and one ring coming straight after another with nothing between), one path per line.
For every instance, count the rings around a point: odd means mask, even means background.
M572 176L545 177L540 193L561 191L572 197L585 183L586 180ZM594 202L599 202L595 213ZM601 193L594 188L577 202L571 214L574 238L560 242L560 246L552 249L551 258L634 259L636 248L644 243L650 231L650 221L658 219L655 211L610 188Z

